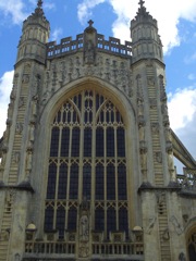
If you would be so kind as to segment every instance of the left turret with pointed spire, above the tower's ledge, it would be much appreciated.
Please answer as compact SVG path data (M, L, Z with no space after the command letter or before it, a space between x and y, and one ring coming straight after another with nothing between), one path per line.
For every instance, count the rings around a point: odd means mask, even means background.
M42 1L38 0L35 12L23 23L23 35L19 44L17 60L34 59L45 63L46 42L50 34L50 24L42 11Z

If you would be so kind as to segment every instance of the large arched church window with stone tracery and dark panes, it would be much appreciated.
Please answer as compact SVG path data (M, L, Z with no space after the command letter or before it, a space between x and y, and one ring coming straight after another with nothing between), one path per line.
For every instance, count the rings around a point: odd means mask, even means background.
M51 124L45 229L76 231L85 197L91 229L127 235L125 126L110 99L83 90L65 100Z

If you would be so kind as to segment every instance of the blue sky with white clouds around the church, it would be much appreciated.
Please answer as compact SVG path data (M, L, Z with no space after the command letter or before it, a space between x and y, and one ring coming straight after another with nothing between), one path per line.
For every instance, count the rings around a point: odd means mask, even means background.
M0 0L0 136L5 125L12 88L16 47L22 22L37 0ZM164 47L170 122L196 158L196 0L146 0L147 11L158 21ZM98 33L130 40L130 21L138 0L44 0L50 21L50 40L83 33L91 18Z

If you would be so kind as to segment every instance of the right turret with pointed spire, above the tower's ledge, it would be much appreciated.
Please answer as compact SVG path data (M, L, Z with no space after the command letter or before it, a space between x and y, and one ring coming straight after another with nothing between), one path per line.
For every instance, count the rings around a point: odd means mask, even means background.
M133 62L140 59L162 60L162 44L158 34L157 21L146 11L144 1L139 1L137 15L131 21Z

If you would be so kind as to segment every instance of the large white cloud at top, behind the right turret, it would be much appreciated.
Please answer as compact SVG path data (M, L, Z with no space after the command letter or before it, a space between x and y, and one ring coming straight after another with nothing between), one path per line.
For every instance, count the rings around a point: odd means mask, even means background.
M91 10L102 2L109 2L118 18L112 25L114 37L122 40L130 38L130 21L134 18L138 9L137 0L83 0L77 7L77 15L82 23L89 18ZM159 34L164 46L164 52L172 47L180 45L180 36L177 25L180 18L196 22L196 1L179 1L179 0L146 0L145 7L147 11L158 20Z

